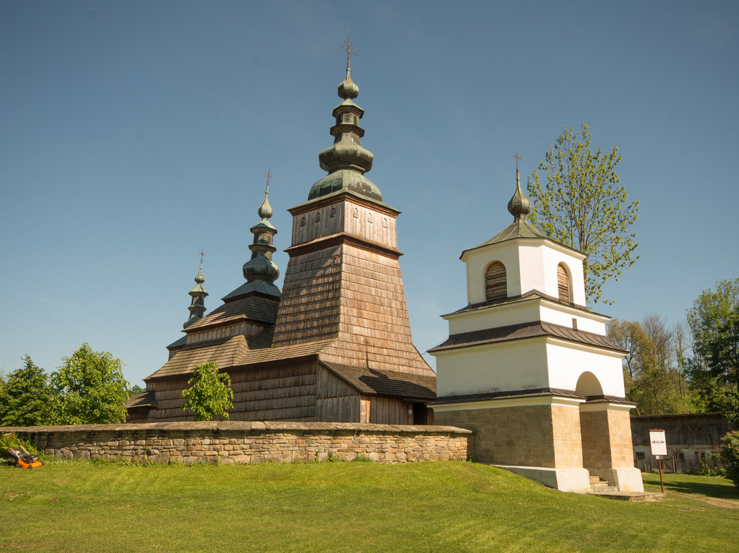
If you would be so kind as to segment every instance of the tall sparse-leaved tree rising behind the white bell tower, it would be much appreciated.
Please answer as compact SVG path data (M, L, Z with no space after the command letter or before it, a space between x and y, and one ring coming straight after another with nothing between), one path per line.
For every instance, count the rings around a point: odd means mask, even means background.
M639 256L636 233L628 229L636 221L638 201L627 202L627 191L618 186L616 166L619 147L612 152L590 150L588 126L582 125L582 140L571 127L559 135L528 181L533 208L529 217L551 239L582 251L585 261L585 292L588 302L602 301L602 285L616 280ZM539 181L546 172L546 183Z

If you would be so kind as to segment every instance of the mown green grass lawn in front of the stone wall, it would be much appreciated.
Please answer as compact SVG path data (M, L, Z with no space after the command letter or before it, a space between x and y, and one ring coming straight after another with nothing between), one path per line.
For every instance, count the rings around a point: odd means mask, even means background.
M668 499L545 488L461 462L0 467L0 546L32 552L727 552L739 495L665 475ZM647 489L658 475L645 475Z

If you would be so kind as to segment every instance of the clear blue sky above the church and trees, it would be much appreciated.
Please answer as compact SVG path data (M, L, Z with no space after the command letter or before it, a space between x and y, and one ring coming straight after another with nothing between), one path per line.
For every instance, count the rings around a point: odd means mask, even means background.
M0 370L88 342L140 384L201 246L209 310L243 282L268 169L284 274L347 30L420 350L466 304L461 251L511 220L511 155L525 177L581 123L641 202L641 259L596 311L683 322L739 277L738 27L733 1L0 1Z

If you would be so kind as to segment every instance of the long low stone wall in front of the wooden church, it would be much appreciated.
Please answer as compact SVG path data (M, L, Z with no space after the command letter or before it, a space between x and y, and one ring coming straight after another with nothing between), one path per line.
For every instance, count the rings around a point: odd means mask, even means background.
M297 422L169 422L4 428L47 455L146 463L465 461L472 432L454 427Z

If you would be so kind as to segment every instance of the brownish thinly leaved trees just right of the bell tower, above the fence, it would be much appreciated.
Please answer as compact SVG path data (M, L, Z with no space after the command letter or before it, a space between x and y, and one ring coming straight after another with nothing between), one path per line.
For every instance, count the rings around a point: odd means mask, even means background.
M626 398L636 403L639 415L684 413L688 410L684 375L675 347L675 333L655 315L644 322L608 324L608 338L624 350Z

